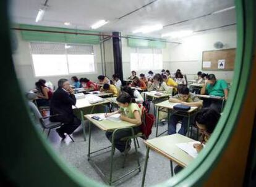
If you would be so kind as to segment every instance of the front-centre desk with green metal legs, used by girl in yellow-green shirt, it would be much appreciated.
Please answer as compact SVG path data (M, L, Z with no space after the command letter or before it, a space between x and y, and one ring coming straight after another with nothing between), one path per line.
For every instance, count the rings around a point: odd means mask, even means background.
M139 171L140 172L140 162L139 162L139 155L137 152L137 145L135 144L135 137L134 137L134 129L132 127L136 126L135 124L131 124L129 122L126 121L121 121L121 122L115 122L115 121L109 121L108 119L103 119L103 121L97 121L95 119L92 119L92 116L96 116L99 114L88 114L85 115L85 118L88 119L89 123L89 140L88 140L88 161L91 161L93 165L95 165L95 168L99 171L99 173L101 173L103 175L103 177L105 178L105 175L103 174L103 172L100 170L100 168L95 164L95 162L93 162L92 160L90 160L90 156L93 153L98 153L99 151L102 151L104 149L108 149L111 148L111 162L110 162L110 174L109 174L109 180L108 183L109 185L112 185L112 183L121 180L122 178L126 177L127 175L129 175L132 172L135 171ZM112 142L111 142L111 146L107 147L107 148L103 148L97 151L93 151L91 152L91 135L92 135L92 125L95 125L96 127L98 127L99 129L103 130L103 131L113 131L112 134ZM117 131L122 130L122 129L130 129L132 132L132 136L134 139L134 146L135 146L135 153L137 154L137 162L138 162L138 167L136 167L135 169L125 173L124 175L122 175L122 177L117 178L116 180L113 181L113 156L114 156L114 136L116 134Z

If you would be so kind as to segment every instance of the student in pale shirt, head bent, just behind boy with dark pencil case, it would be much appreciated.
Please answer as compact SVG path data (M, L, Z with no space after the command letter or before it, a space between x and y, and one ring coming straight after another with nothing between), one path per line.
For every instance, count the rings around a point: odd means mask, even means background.
M163 92L165 94L171 94L171 88L166 85L163 81L161 74L155 74L153 78L153 83L150 87L148 87L148 91L151 92L153 90Z

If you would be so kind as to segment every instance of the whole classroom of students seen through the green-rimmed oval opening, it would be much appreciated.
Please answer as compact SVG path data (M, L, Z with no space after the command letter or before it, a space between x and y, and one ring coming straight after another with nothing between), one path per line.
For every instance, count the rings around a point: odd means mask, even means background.
M12 61L34 135L85 186L234 186L176 181L228 142L220 131L241 91L237 5L13 0Z

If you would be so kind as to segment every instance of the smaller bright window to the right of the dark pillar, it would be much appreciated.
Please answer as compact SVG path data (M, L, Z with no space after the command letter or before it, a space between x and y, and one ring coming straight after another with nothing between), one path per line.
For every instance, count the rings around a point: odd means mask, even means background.
M163 55L161 49L137 49L130 54L131 70L161 70L163 68Z

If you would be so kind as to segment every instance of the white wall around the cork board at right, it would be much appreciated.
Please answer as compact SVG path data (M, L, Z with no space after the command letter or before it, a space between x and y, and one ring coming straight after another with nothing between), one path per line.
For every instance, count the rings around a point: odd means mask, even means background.
M187 74L188 79L194 79L197 71L202 71L202 52L216 50L213 47L216 41L223 42L223 49L236 48L236 26L194 34L183 38L180 41L182 44L168 44L168 69L172 72L181 69L182 73ZM226 79L228 82L232 81L234 74L234 71L203 72L214 73L216 78Z

